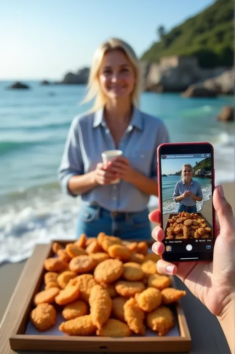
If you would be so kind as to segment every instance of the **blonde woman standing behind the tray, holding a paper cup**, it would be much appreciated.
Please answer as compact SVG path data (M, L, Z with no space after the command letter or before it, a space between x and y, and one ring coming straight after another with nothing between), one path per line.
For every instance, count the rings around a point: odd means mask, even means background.
M169 137L162 120L139 110L139 95L133 49L116 38L103 43L88 83L86 101L94 99L94 106L73 119L59 167L62 190L81 196L77 237L151 238L147 204L158 195L156 151ZM101 154L113 149L123 155L105 166Z

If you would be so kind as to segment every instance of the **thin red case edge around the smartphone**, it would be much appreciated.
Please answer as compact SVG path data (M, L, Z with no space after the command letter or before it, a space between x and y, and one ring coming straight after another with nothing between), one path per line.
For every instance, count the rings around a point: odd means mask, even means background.
M158 146L158 149L157 149L157 166L158 166L158 171L157 171L157 174L158 174L158 181L160 181L160 149L162 146L169 146L169 145L203 145L203 144L208 144L211 146L211 149L213 151L213 178L212 178L212 193L215 189L215 164L214 164L214 147L212 144L204 141L204 142L195 142L195 143L164 143L164 144L161 144ZM160 189L161 189L161 185L160 185L160 182L158 182L158 199L159 199L159 212L160 212L160 220L161 220L161 228L163 228L163 225L162 225L162 201L161 201L161 193L160 193ZM216 232L216 216L215 216L215 211L213 212L213 231L214 231L214 239L215 239L215 232ZM163 256L161 255L161 258L163 258ZM190 262L190 261L189 261ZM191 261L193 262L193 260ZM180 262L178 262L180 263Z

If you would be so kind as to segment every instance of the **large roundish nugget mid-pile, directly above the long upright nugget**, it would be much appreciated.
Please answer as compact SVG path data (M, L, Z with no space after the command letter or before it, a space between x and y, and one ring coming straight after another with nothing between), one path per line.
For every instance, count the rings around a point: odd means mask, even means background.
M94 278L98 283L113 283L124 272L123 263L119 259L106 259L94 270Z

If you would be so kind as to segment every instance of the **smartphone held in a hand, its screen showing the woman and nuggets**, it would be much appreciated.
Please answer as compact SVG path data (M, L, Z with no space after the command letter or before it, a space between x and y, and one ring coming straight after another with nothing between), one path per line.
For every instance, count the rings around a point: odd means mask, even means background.
M215 242L214 149L210 143L161 144L158 186L168 262L212 261Z

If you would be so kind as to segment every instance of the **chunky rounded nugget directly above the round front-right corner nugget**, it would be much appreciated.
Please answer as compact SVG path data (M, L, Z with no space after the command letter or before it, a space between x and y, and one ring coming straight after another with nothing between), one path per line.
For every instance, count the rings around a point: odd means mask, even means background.
M156 288L147 288L135 297L138 306L145 312L151 312L162 303L162 294Z

